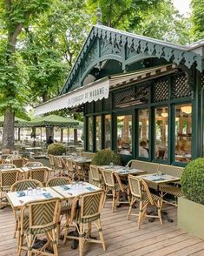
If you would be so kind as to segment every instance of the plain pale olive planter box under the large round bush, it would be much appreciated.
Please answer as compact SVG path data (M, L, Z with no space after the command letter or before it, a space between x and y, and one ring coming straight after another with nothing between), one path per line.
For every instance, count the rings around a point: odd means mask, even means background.
M204 205L183 197L178 200L178 227L204 239Z

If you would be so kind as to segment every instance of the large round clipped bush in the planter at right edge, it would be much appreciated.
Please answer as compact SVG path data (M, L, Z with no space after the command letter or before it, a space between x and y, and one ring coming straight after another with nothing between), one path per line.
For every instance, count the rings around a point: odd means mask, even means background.
M181 189L184 196L204 205L204 158L189 162L181 175Z

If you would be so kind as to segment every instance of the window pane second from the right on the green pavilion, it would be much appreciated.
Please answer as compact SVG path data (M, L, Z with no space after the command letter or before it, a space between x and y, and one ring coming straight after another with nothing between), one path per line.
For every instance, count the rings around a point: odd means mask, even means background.
M168 158L168 108L155 109L155 158Z

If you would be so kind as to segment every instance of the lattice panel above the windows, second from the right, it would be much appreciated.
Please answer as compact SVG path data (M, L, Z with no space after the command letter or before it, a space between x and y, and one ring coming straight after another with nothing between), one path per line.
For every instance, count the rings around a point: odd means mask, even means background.
M152 101L159 102L168 99L168 79L159 79L153 85Z

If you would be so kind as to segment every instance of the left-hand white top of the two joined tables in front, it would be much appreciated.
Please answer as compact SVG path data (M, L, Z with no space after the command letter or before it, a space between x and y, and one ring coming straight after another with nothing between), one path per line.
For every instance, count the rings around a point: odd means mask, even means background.
M17 196L16 192L8 192L7 198L10 201L10 205L16 209L21 208L22 205L25 203L46 199L46 197L43 195L43 193L46 193L46 192L49 192L49 194L52 196L52 199L56 199L56 198L63 199L63 196L60 195L55 190L53 190L51 187L43 187L41 188L41 190L42 190L42 193L36 195L36 190L33 189L33 195L30 195L30 196L27 196L27 191L24 191L25 196L22 196L22 197Z

